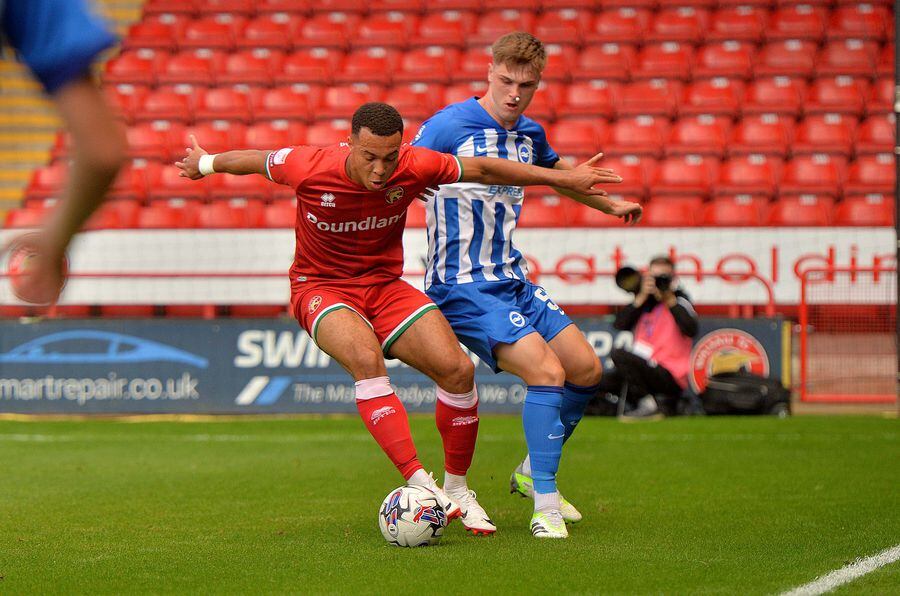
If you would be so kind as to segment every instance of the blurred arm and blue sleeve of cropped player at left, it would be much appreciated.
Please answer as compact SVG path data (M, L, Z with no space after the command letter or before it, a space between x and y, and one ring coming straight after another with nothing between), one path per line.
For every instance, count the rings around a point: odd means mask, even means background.
M125 133L91 78L91 64L115 37L82 0L0 1L3 33L53 99L72 138L72 166L40 232L14 239L14 288L28 302L59 297L66 248L103 202L127 154Z

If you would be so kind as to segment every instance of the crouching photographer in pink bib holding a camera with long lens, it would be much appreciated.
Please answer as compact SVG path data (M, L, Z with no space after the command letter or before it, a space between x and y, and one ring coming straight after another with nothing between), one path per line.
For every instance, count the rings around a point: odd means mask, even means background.
M630 351L612 351L615 369L603 375L601 392L619 394L627 383L627 400L636 405L627 414L630 418L657 418L661 410L673 413L687 387L697 313L668 257L654 257L643 275L623 268L616 283L635 294L613 323L616 329L633 331L634 344Z

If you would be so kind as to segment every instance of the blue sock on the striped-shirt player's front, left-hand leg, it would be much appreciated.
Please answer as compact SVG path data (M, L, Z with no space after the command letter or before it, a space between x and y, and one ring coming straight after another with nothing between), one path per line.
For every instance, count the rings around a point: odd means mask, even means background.
M562 387L529 385L522 408L525 443L531 457L531 478L536 493L556 492L556 471L562 455L565 429L559 419Z

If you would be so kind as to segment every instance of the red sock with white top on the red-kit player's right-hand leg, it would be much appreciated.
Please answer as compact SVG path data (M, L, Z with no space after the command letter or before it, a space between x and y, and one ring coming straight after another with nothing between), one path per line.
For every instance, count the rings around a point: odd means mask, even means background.
M475 455L478 437L478 396L473 389L465 394L447 393L438 388L435 422L444 442L444 469L465 476Z

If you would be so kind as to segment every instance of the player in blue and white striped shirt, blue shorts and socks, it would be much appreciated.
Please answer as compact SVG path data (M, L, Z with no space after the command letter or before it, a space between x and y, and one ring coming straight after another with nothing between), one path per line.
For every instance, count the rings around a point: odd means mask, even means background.
M560 160L543 127L522 115L546 61L534 36L504 35L493 45L485 96L432 116L413 145L460 158L487 156L570 171L573 166ZM571 319L528 281L526 260L512 244L520 210L527 208L521 186L461 182L442 186L428 201L426 292L462 343L495 371L527 384L522 419L528 456L513 472L511 488L534 497L535 536L565 538L565 522L579 521L581 513L560 496L556 472L563 443L597 392L602 366ZM556 190L631 223L641 216L636 203Z

